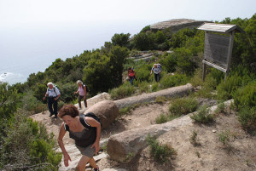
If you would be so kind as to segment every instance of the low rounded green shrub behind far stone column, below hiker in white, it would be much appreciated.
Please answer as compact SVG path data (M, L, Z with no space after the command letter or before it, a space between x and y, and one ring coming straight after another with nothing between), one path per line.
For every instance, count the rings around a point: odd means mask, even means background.
M166 75L160 79L162 88L172 88L187 83L187 77L185 75Z

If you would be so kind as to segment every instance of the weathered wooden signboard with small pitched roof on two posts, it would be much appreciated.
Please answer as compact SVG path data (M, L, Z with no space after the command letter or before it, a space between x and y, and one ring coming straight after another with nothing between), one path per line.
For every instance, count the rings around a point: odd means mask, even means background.
M225 80L230 70L230 60L235 32L244 32L239 26L216 23L205 23L198 27L205 31L205 49L203 62L203 76L205 79L206 65L225 72Z

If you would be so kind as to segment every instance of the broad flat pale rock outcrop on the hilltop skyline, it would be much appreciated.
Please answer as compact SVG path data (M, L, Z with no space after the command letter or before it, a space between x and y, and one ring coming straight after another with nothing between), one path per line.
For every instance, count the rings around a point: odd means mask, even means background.
M152 31L164 30L166 28L172 31L178 31L183 28L194 28L201 26L206 20L189 20L189 19L177 19L177 20L166 20L159 23L150 25Z

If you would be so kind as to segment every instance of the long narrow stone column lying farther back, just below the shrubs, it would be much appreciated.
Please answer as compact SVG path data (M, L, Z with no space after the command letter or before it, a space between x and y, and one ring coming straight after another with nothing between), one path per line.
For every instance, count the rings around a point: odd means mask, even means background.
M118 106L119 109L121 109L130 105L143 104L146 102L154 102L155 98L158 96L164 96L164 97L183 96L185 94L188 94L192 90L193 90L193 86L190 83L188 83L183 86L167 88L151 94L141 94L141 95L128 97L121 100L114 100L113 102Z

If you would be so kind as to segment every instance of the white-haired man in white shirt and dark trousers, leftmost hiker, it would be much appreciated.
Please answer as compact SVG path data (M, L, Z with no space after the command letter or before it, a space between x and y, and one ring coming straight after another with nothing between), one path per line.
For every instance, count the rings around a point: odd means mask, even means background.
M47 83L47 91L43 97L43 100L48 96L48 108L49 108L49 117L55 115L57 118L58 114L58 99L61 96L60 90L54 86L53 83ZM53 110L52 110L53 105Z

